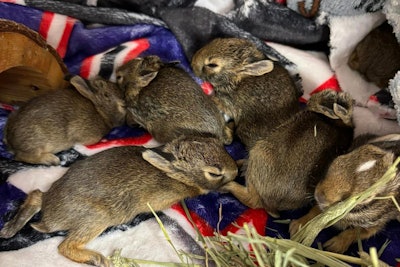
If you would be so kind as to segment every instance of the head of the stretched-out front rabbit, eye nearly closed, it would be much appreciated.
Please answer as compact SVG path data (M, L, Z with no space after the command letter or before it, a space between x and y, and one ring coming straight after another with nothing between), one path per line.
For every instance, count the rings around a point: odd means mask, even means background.
M205 190L218 189L238 174L236 162L213 137L180 137L162 152L143 152L143 158L174 178L193 179L192 185Z

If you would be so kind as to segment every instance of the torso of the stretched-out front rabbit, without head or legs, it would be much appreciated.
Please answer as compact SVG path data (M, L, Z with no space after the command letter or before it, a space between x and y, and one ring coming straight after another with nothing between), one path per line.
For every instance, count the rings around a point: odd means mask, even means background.
M143 151L117 147L76 162L43 195L40 227L52 232L75 228L80 222L117 225L148 212L147 202L159 210L179 201L182 192L198 193L171 182L143 160Z

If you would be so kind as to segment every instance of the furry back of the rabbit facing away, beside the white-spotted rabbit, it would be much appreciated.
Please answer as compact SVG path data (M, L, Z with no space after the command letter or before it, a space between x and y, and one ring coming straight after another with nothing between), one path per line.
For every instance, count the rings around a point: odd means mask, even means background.
M250 149L246 179L258 188L266 210L300 208L330 163L351 144L351 128L339 129L305 110Z

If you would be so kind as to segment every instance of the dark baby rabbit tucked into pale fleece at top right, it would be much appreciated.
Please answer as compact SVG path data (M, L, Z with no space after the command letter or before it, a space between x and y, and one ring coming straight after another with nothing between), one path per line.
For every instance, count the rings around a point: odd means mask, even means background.
M373 29L351 53L348 65L380 88L400 70L400 44L393 28L385 22Z

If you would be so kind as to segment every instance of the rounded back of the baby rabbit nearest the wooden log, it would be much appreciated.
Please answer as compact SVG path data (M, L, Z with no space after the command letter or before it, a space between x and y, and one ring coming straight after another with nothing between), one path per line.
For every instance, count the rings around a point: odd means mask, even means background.
M5 136L18 160L20 153L56 153L76 143L95 143L108 130L90 100L73 89L59 89L12 112Z

